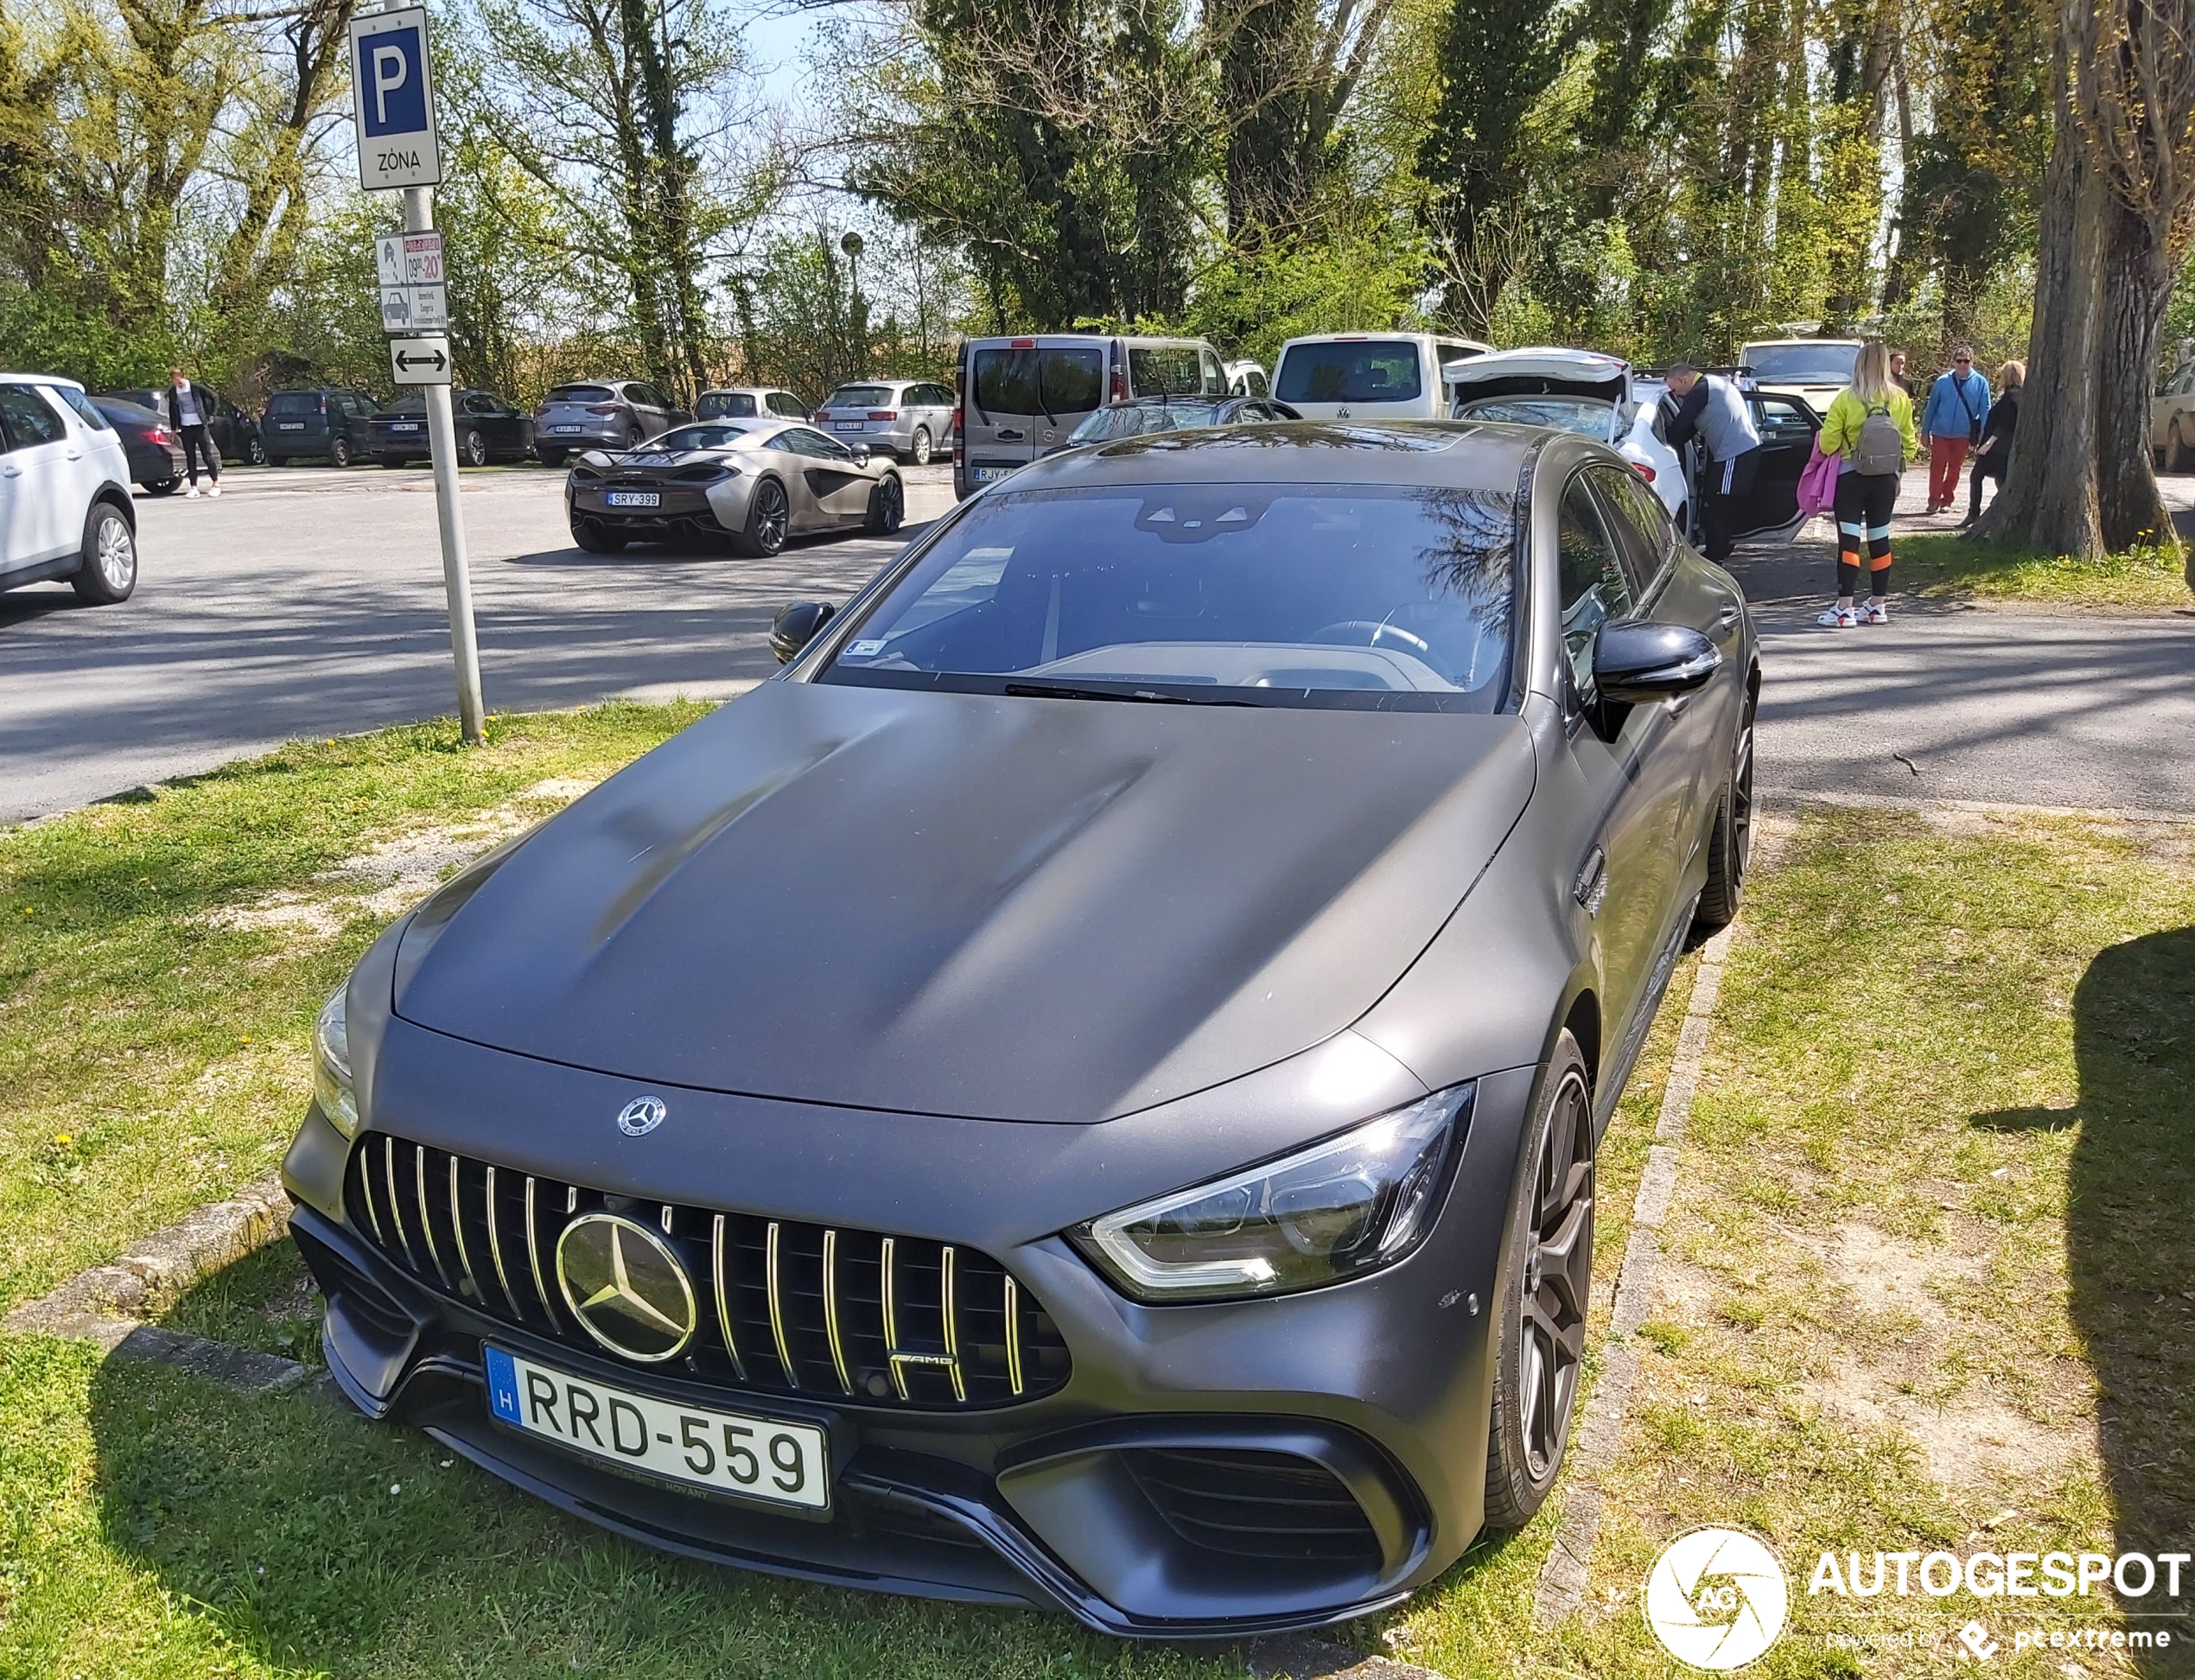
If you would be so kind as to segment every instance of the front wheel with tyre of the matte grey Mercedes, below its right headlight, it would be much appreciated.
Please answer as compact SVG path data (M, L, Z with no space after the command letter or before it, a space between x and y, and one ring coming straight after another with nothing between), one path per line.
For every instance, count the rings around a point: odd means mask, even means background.
M1526 1177L1510 1214L1495 1403L1486 1441L1486 1526L1523 1528L1569 1449L1594 1287L1594 1098L1565 1030L1526 1131Z

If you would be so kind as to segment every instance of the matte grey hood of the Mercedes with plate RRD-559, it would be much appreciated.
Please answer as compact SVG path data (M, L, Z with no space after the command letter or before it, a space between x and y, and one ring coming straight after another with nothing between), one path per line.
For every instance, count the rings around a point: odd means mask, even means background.
M643 1083L1095 1122L1343 1030L1519 718L764 683L428 900L404 1019Z

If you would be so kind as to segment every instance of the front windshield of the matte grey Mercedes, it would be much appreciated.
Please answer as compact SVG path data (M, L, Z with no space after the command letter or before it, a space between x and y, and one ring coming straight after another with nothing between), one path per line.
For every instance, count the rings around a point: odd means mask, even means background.
M992 492L863 615L819 681L1495 712L1515 549L1510 490Z

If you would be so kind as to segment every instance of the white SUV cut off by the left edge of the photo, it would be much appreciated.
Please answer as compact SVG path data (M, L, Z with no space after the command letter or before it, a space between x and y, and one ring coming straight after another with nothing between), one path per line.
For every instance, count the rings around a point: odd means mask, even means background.
M0 373L0 589L44 578L88 602L130 600L130 457L75 380Z

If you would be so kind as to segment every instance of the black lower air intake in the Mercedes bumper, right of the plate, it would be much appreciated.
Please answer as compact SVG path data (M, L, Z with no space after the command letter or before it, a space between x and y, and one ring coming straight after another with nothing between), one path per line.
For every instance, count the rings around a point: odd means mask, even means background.
M1378 1564L1357 1496L1310 1458L1234 1447L1130 1447L1122 1454L1166 1526L1234 1557Z

